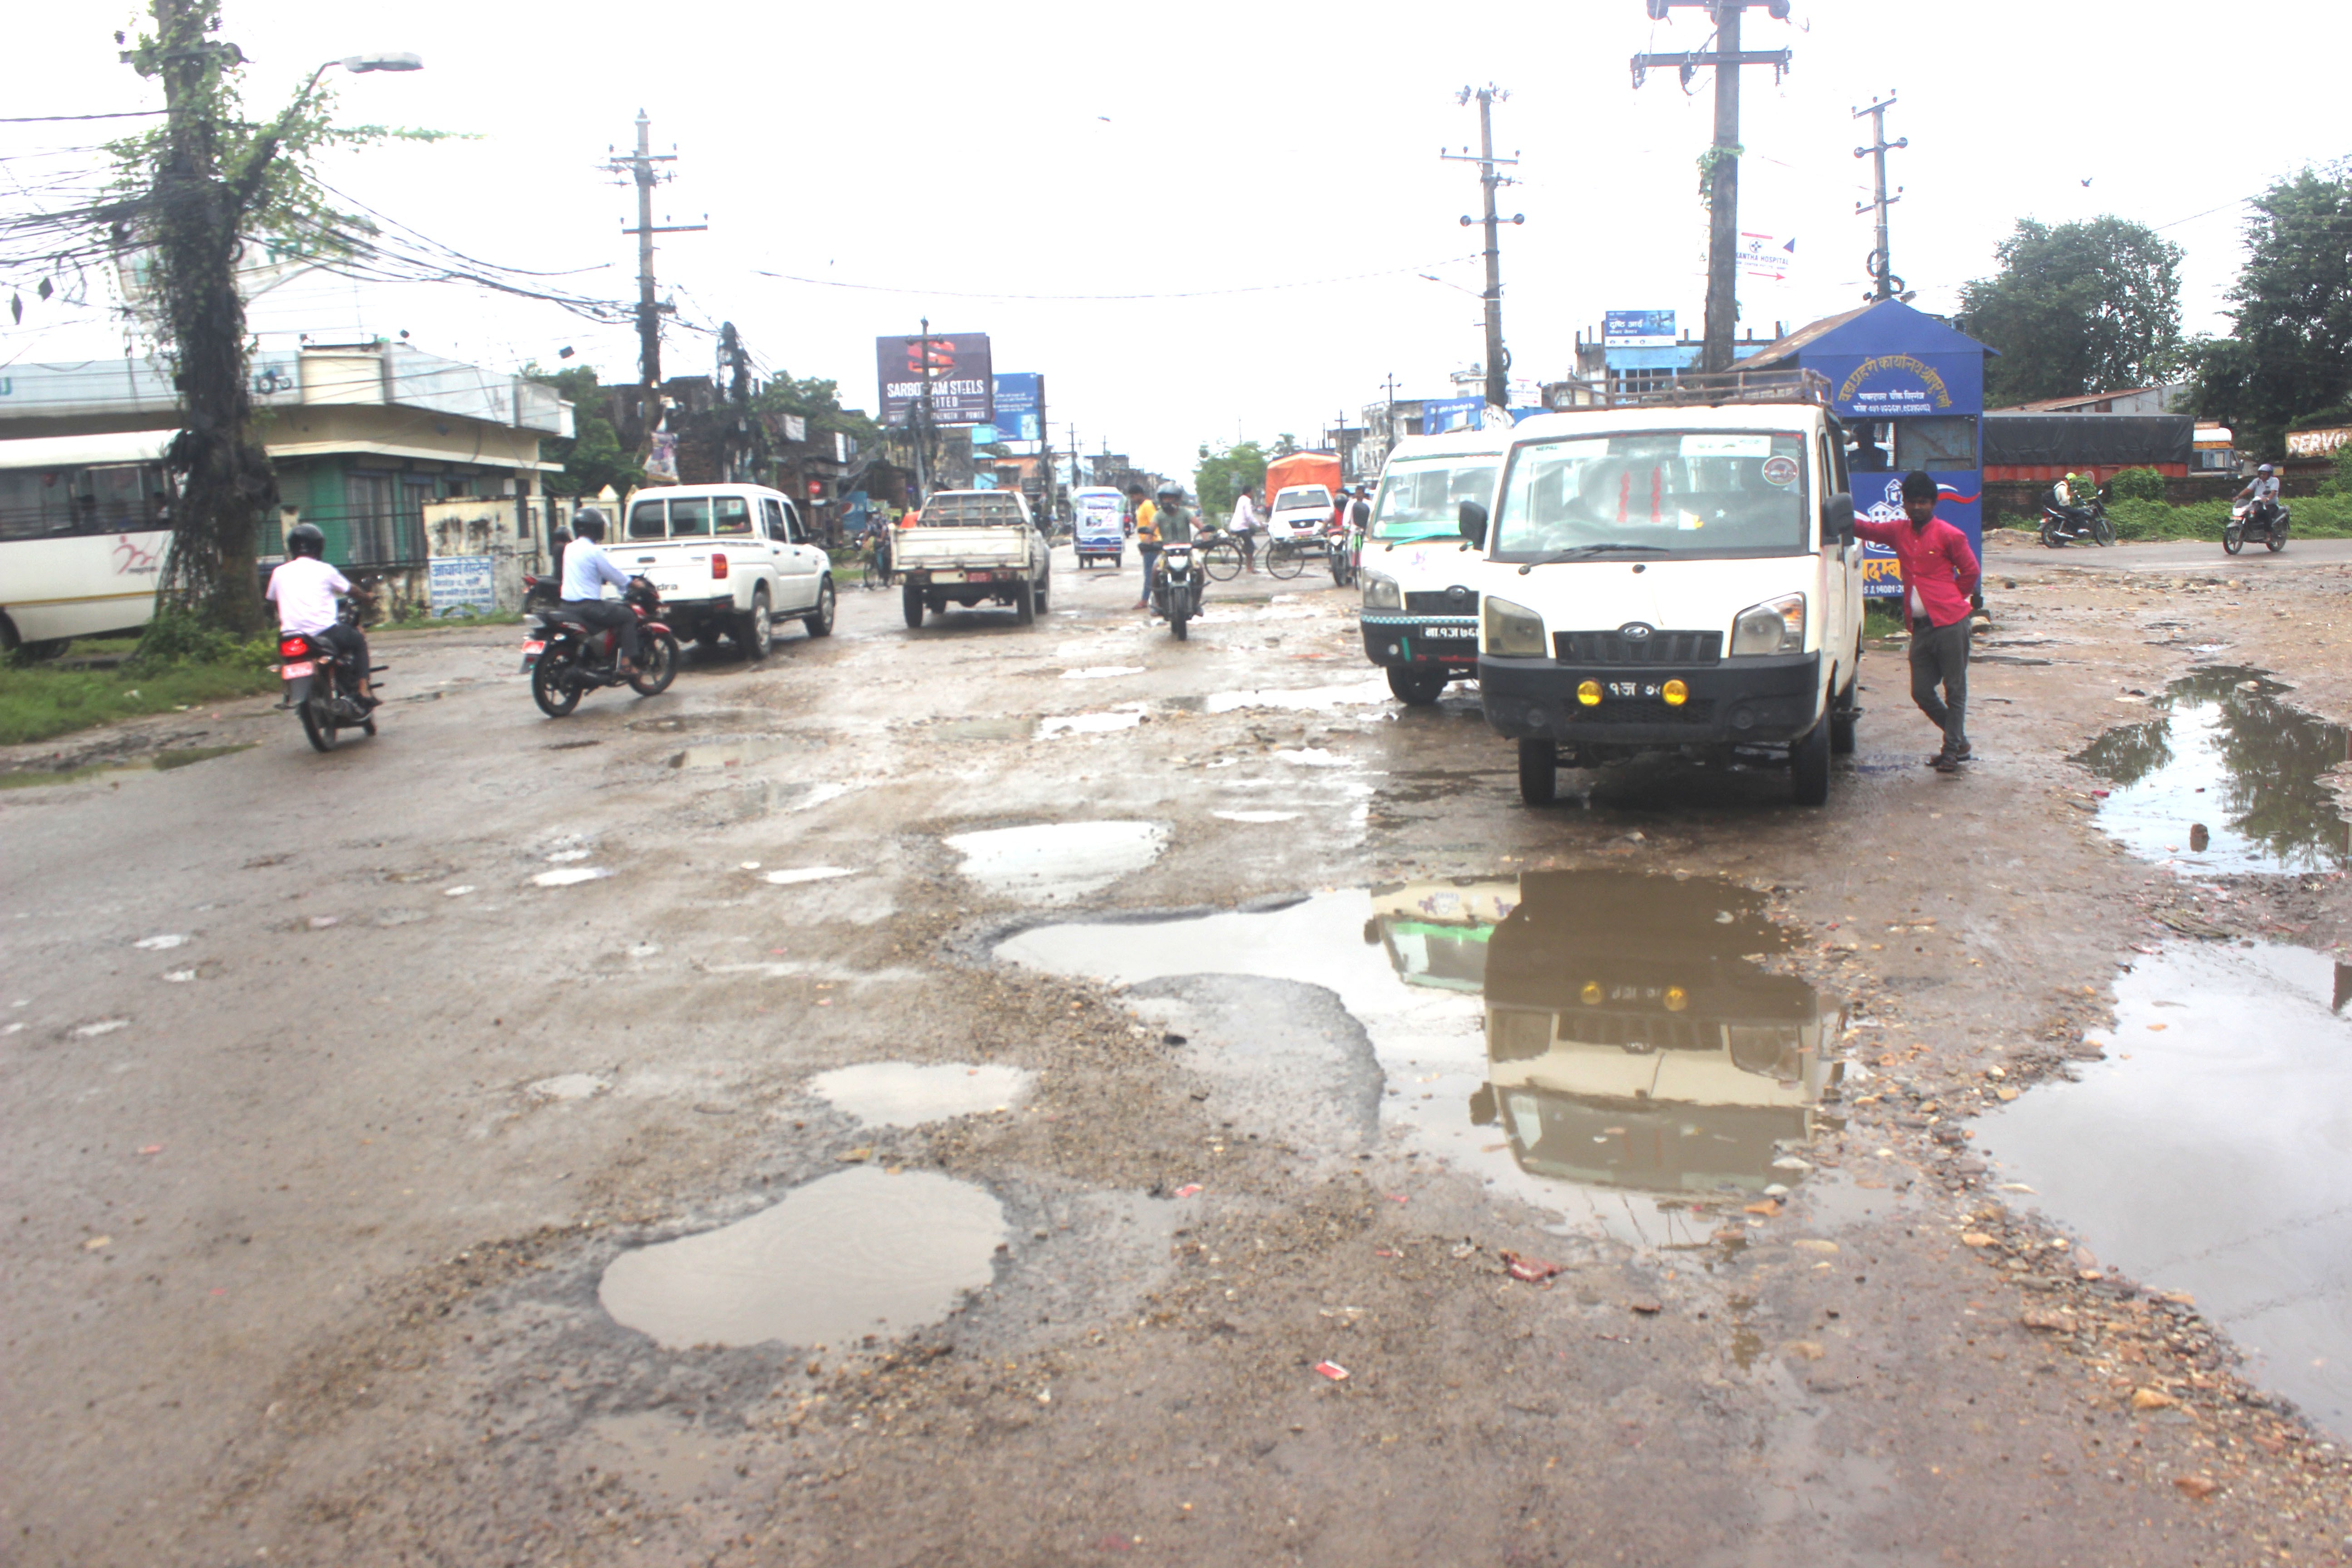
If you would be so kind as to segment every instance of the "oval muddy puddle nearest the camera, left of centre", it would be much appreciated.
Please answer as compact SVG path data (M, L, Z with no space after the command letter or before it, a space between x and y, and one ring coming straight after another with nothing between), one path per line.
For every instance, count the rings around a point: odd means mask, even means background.
M621 1253L597 1300L670 1349L847 1349L936 1324L995 1274L1004 1208L936 1171L861 1166L748 1220Z

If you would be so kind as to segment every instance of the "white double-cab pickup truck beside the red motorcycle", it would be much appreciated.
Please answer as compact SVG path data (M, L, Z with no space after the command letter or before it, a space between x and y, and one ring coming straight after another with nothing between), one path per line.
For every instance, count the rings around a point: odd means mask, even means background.
M607 555L661 590L680 637L729 637L746 658L767 658L776 621L833 635L833 559L764 484L640 489Z

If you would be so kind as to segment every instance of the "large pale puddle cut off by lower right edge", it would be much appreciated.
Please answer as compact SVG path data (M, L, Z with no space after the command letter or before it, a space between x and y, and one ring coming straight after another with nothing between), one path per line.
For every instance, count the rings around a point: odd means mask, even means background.
M2187 1291L2249 1373L2352 1436L2352 969L2178 943L2117 978L2107 1060L1978 1121L2100 1265Z

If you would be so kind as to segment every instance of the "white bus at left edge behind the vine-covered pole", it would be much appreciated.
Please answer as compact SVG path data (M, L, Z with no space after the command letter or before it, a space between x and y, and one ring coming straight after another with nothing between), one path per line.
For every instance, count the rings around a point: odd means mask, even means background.
M0 649L33 658L155 614L176 430L0 442Z

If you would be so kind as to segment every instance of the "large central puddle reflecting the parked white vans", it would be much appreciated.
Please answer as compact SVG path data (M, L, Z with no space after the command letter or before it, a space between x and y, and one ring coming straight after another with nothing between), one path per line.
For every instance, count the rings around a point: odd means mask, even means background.
M1035 926L997 957L1164 997L1169 1018L1214 1025L1225 1006L1242 1027L1195 1065L1228 1079L1242 1110L1263 1048L1251 1041L1277 1032L1282 1009L1308 1016L1336 997L1369 1041L1383 1135L1402 1131L1571 1222L1675 1244L1665 1199L1795 1187L1811 1171L1802 1152L1839 1079L1842 1006L1755 961L1785 943L1764 898L1736 884L1592 870ZM1298 990L1247 990L1261 980ZM1261 1112L1296 1133L1305 1093L1284 1084Z

